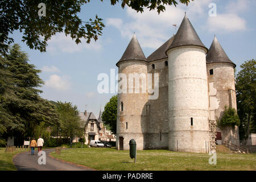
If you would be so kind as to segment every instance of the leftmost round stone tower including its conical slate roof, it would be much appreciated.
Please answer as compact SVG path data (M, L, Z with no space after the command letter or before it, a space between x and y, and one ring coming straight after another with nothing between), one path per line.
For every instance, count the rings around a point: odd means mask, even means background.
M118 61L117 67L120 85L116 147L117 150L129 150L130 139L135 139L137 150L143 150L146 144L144 136L148 101L147 60L135 35Z

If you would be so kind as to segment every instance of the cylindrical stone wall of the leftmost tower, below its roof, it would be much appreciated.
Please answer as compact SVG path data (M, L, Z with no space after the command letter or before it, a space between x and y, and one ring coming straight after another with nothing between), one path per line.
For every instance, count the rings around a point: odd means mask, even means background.
M118 73L125 74L127 80L129 79L129 73L147 74L147 63L125 61L119 64ZM146 144L144 135L146 135L147 126L146 104L148 102L148 94L147 92L135 93L134 85L131 86L133 87L133 93L118 93L116 142L118 150L119 137L123 137L123 150L129 150L130 139L135 139L137 142L137 150L143 150ZM127 88L129 88L129 81L127 81ZM123 102L123 111L121 111L121 102Z

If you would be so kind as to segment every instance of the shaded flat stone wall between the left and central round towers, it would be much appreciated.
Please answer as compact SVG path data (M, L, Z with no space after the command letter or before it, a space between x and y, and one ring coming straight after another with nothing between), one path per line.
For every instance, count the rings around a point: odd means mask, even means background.
M148 64L148 73L159 74L159 96L156 100L148 100L146 148L168 148L168 66L167 59L152 61ZM155 69L152 69L152 64Z

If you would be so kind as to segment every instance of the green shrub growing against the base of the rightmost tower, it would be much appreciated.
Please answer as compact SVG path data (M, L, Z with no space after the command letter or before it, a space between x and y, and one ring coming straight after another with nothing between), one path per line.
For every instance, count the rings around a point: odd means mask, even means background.
M228 108L227 106L225 106L224 114L221 119L221 125L222 126L228 126L228 125L239 126L240 125L240 119L237 115L236 109Z

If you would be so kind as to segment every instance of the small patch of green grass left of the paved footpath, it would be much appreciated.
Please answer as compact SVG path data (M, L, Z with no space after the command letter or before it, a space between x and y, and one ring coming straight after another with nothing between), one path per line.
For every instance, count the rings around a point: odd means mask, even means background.
M5 148L0 148L0 171L16 171L17 169L13 164L13 157L14 155L24 151L26 150L18 150L11 153L6 153Z

